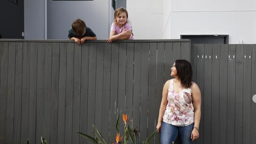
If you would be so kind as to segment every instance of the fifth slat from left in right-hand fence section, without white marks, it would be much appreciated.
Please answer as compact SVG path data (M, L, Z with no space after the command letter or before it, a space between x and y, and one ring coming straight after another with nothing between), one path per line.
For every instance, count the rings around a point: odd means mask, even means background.
M214 56L213 56L214 58ZM228 83L228 45L221 44L219 72L219 143L226 144L227 135L227 83Z

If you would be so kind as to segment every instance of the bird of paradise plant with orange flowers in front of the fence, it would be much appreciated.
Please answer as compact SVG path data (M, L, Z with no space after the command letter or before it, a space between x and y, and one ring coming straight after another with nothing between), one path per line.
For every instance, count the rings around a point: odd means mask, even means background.
M123 136L120 137L120 133L119 133L119 120L120 120L120 116L121 116L121 111L117 118L117 124L116 124L117 135L115 138L115 142L111 142L111 144L121 144L121 140L123 138ZM128 122L131 120L128 119L127 114L122 114L122 119L124 121L124 144L128 144L129 140L131 140L132 144L135 144L138 131L136 129L132 129L132 127L129 126ZM100 131L98 130L98 128L94 125L93 125L93 128L95 129L95 131L93 131L95 138L90 137L89 135L86 135L84 133L80 133L80 132L76 132L76 133L78 135L80 135L81 137L91 140L95 144L106 144L106 141L104 140L104 138L103 138L102 134L100 133ZM147 138L147 140L141 142L141 144L149 144L150 140L154 137L154 135L156 134L157 131L158 131L158 129L156 129L156 131L154 131L154 133L152 133Z

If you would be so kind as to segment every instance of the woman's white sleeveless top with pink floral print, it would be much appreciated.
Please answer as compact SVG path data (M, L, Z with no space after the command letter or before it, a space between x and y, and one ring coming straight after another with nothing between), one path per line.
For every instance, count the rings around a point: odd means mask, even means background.
M174 92L173 81L170 80L167 106L163 115L163 122L174 126L187 126L194 122L194 106L192 103L191 89L183 89L178 93ZM193 84L193 82L192 82Z

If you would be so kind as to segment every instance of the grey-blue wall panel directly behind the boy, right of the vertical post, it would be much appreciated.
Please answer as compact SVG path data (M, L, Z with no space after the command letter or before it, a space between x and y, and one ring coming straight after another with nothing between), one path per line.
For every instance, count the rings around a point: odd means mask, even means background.
M109 35L109 0L47 1L47 39L68 39L72 22L81 18L98 39Z

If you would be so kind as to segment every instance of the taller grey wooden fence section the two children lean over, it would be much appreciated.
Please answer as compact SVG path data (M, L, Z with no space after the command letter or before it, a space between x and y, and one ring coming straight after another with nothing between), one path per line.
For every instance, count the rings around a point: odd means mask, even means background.
M155 130L174 60L190 59L189 40L2 39L0 49L0 144L91 143L75 132L93 136L92 124L113 141L121 109L139 143Z

